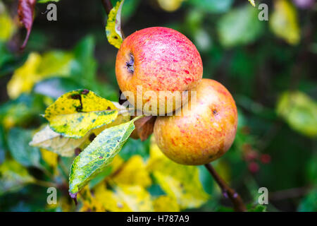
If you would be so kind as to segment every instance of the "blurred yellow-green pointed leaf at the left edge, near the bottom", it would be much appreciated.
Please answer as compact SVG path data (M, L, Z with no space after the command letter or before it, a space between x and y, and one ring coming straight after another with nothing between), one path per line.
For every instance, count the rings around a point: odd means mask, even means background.
M25 184L35 182L27 170L14 160L6 160L0 165L0 196L20 190Z

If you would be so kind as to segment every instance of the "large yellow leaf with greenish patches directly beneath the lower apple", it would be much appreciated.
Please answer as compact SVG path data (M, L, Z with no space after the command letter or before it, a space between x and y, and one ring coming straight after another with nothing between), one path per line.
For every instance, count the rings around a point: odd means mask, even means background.
M179 165L169 160L152 137L148 170L152 172L161 189L178 201L181 209L198 208L206 203L209 195L199 182L196 166Z

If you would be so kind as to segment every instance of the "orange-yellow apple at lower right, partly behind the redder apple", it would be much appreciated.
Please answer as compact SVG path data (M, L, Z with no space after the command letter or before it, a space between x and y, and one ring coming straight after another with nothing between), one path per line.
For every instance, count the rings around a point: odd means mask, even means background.
M183 165L216 160L230 148L237 131L235 100L223 85L202 79L194 90L196 101L182 106L180 116L158 117L154 124L159 148Z

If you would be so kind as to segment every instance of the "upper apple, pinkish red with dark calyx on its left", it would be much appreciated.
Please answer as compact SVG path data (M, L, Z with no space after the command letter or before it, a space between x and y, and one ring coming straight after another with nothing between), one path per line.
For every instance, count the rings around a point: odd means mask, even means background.
M165 113L177 108L174 102L173 107L166 109L166 104L170 103L166 103L166 97L159 96L160 91L170 92L168 97L179 93L183 102L187 102L186 92L201 81L202 73L201 57L194 44L170 28L154 27L134 32L125 38L116 58L120 90L130 91L134 96L132 101L127 97L131 104L146 114L153 114L152 109L159 114L160 106ZM148 91L156 97L147 95ZM137 98L140 105L137 105ZM156 105L151 102L153 99L157 100ZM146 104L150 105L149 109L144 109Z

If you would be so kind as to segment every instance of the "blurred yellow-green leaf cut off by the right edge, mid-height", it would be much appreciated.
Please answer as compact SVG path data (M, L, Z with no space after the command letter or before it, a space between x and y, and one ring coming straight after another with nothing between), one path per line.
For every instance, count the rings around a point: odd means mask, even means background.
M317 103L305 93L283 93L276 111L295 131L306 136L317 136Z

